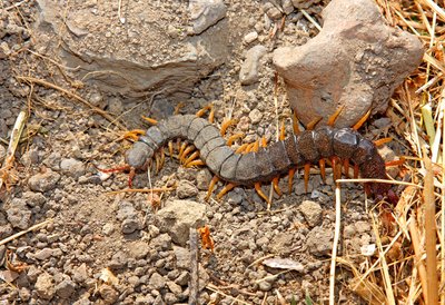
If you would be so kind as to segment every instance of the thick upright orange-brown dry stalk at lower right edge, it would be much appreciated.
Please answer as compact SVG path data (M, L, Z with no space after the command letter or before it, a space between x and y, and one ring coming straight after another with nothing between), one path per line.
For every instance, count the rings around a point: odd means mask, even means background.
M424 149L424 152L426 149ZM436 258L436 205L434 198L434 177L431 159L424 157L426 177L424 188L425 199L425 246L426 246L426 272L427 278L427 302L426 304L437 304L438 284L437 284L437 258Z

